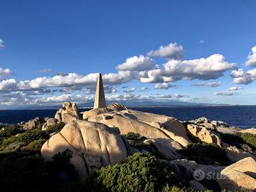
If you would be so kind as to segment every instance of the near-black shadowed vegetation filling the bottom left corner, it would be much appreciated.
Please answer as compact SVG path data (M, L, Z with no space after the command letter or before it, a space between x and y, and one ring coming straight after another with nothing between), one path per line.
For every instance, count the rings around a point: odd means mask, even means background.
M70 157L70 151L63 151L46 162L28 152L0 154L0 191L52 191L75 181Z

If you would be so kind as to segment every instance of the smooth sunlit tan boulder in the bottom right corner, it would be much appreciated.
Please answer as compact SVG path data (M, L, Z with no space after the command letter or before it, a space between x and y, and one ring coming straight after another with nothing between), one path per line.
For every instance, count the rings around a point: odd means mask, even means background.
M221 189L232 191L256 191L256 161L250 157L227 166L220 172Z

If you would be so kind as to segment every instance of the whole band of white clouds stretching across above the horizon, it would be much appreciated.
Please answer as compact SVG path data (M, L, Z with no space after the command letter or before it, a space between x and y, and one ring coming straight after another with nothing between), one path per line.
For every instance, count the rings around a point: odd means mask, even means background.
M1 40L1 39L0 39ZM4 41L0 41L4 48ZM116 65L115 73L102 75L105 85L106 100L119 102L127 100L138 101L169 101L198 102L198 97L188 95L150 93L151 90L173 90L184 87L174 85L174 82L188 82L187 87L210 87L216 89L223 85L220 78L230 77L233 84L248 85L256 80L256 68L246 70L238 68L237 63L228 62L219 53L207 58L184 59L183 46L169 43L156 50L150 50L145 55L134 55L125 59L124 63ZM164 61L159 62L157 58ZM245 60L244 67L256 67L256 46ZM111 70L111 69L110 69ZM114 70L114 69L113 69ZM36 73L42 75L52 70L45 68ZM0 106L11 105L56 105L61 102L92 102L94 98L97 73L78 74L67 73L53 76L41 76L31 80L17 80L9 68L0 68ZM200 80L199 82L194 82ZM209 82L209 80L211 80ZM215 80L215 81L212 81ZM217 81L216 81L217 80ZM137 82L140 87L127 86ZM191 83L189 83L191 82ZM122 90L121 85L126 85ZM143 85L143 86L142 86ZM146 85L146 86L145 86ZM148 87L151 86L151 89ZM186 89L186 87L184 87ZM118 94L122 90L123 94ZM214 96L239 95L242 87L229 87L226 91L213 91ZM173 90L174 91L174 90ZM145 92L144 95L139 92ZM149 93L146 93L149 92Z

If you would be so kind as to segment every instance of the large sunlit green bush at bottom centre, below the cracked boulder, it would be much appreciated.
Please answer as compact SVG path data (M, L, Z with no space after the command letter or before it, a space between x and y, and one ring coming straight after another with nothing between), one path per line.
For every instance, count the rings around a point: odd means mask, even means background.
M164 191L181 189L171 169L149 153L134 154L119 164L104 166L82 183L73 183L65 191Z

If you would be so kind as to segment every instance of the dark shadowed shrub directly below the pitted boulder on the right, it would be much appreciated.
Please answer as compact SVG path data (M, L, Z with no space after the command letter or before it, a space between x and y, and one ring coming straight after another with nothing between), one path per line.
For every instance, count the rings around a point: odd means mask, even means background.
M178 153L196 161L198 164L218 163L220 165L228 165L231 163L225 151L220 149L217 144L189 144L187 149L178 150Z

